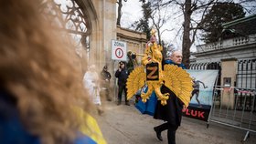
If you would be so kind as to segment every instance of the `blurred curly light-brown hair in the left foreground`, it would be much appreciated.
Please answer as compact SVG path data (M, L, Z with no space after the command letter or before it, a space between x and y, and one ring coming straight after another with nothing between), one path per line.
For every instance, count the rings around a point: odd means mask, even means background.
M90 102L73 66L74 47L60 42L40 2L0 1L1 87L16 97L24 126L42 143L72 143L82 123L72 107L89 111Z

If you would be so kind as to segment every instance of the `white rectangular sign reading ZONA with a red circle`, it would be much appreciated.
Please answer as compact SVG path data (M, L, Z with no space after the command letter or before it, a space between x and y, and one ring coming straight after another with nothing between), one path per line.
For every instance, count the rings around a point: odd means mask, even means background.
M126 42L119 40L112 40L112 59L126 61L127 53Z

